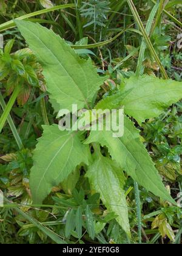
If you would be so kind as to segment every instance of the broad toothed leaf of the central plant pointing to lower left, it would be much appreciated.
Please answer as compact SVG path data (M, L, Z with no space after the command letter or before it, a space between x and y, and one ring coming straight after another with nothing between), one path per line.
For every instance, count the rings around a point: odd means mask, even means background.
M79 133L61 132L57 125L43 126L33 157L34 166L30 173L30 188L35 204L40 204L52 187L65 180L81 163L88 164L85 145Z

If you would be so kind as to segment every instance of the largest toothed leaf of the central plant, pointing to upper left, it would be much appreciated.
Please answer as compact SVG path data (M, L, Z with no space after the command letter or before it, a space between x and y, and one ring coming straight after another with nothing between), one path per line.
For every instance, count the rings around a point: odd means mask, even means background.
M15 22L44 69L50 101L56 110L72 110L72 104L89 108L105 80L96 74L91 60L80 59L52 30L26 21Z

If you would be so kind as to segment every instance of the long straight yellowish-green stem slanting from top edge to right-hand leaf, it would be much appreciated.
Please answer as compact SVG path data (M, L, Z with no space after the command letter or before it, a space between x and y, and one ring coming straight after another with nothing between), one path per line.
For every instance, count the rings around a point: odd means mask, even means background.
M133 1L132 0L127 0L127 3L129 4L130 10L133 13L133 16L134 16L134 18L136 20L136 23L138 24L138 27L140 27L140 30L141 30L141 32L143 34L143 37L146 40L146 44L147 44L151 54L153 55L153 58L155 59L155 61L157 62L158 66L161 69L161 73L163 74L165 79L169 79L169 77L167 76L166 70L164 69L163 65L161 64L161 61L160 61L157 53L155 52L155 49L153 48L153 45L152 45L152 43L150 41L150 38L147 35L147 32L146 32L146 30L145 30L145 28L143 26L143 23L141 22L141 19L140 19L140 16L139 16L139 14L138 14L138 12L136 10L136 7L133 4Z

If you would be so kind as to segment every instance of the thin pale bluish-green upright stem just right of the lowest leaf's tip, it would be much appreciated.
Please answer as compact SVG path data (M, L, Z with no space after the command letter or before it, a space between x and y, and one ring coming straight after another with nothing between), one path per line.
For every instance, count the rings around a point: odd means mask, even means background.
M135 187L135 201L136 201L136 218L138 221L138 238L141 244L141 202L140 202L140 191L138 188L138 183L134 182Z

